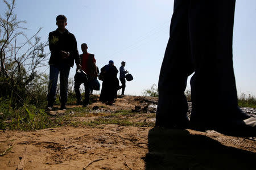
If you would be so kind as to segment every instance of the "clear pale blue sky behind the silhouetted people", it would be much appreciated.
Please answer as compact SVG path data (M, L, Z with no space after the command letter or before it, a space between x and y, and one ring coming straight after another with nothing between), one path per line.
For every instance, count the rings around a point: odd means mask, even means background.
M16 0L15 13L19 20L27 21L28 36L42 27L39 36L45 41L48 33L56 29L56 16L64 14L68 18L67 29L76 36L79 53L80 45L86 42L99 68L109 59L118 69L121 61L126 61L125 68L134 76L126 84L126 94L142 95L143 90L158 83L173 3L170 0ZM2 1L0 10L2 15L5 11ZM241 92L256 96L255 20L256 1L237 1L233 60L238 96ZM75 69L71 69L70 77Z

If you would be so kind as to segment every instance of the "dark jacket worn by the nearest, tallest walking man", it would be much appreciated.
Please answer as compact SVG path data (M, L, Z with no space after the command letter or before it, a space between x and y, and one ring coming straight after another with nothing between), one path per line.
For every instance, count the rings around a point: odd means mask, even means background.
M68 29L65 29L63 33L60 33L59 29L49 33L49 49L51 50L49 65L67 63L73 67L74 59L76 60L76 65L81 63L76 38L72 33L68 32ZM69 57L65 59L61 58L61 50L69 52Z

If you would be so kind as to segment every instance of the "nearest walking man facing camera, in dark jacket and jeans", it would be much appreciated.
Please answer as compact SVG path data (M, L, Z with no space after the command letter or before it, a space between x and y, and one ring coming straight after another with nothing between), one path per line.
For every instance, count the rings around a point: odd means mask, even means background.
M51 111L56 100L57 80L60 74L60 109L66 109L68 101L68 76L70 67L76 61L77 68L80 68L79 52L75 36L66 29L67 18L64 15L56 17L57 29L49 33L49 86L47 95L47 111Z

